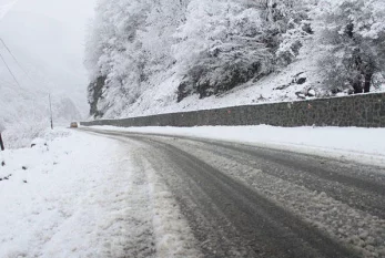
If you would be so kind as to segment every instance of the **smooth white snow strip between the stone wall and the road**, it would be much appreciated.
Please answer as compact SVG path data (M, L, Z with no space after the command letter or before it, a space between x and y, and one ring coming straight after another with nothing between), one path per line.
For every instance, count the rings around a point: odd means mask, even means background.
M135 133L191 136L240 142L285 151L314 154L357 163L385 166L385 128L361 127L276 127L197 126L197 127L114 127L92 126Z

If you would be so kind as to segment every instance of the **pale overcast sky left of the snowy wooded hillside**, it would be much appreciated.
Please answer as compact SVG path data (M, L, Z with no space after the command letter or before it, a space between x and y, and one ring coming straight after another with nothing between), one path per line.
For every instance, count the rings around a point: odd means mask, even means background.
M12 2L14 4L11 10L1 19L1 8ZM47 69L41 71L51 85L58 85L57 93L65 92L78 102L78 107L83 112L88 109L88 79L82 65L84 37L95 2L97 0L0 0L0 38L7 41L21 62L38 56L38 66L44 61ZM27 62L23 63L24 66L30 65ZM18 72L14 72L18 76Z

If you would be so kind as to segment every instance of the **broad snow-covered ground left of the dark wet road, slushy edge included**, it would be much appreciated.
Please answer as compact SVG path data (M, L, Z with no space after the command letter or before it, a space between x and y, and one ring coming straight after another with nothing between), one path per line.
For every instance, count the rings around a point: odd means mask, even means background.
M199 257L130 145L69 130L33 144L0 152L0 257Z

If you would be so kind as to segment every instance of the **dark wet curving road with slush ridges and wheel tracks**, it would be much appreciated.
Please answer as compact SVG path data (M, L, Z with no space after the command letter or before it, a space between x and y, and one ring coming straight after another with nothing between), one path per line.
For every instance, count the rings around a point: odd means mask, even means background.
M83 128L135 145L204 257L385 257L385 169L236 143Z

